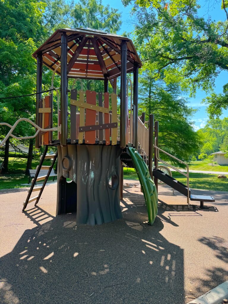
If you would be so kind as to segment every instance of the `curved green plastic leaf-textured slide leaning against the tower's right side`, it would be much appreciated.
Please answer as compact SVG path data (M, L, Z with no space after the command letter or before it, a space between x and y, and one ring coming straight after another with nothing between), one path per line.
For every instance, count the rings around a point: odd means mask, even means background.
M154 220L157 215L157 189L154 185L154 181L150 177L150 173L147 165L143 161L142 157L138 153L138 151L133 147L127 148L127 153L130 155L136 173L138 175L140 184L143 189L143 195L147 204L147 212L149 225L154 223Z

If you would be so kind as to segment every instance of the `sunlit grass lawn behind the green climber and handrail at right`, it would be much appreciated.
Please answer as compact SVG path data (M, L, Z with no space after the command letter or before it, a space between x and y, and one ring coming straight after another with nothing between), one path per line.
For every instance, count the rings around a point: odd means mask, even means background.
M186 185L186 178L178 172L172 172L172 176ZM227 178L218 178L217 174L189 173L190 188L205 189L214 191L228 191ZM135 169L123 168L123 177L125 179L138 179Z

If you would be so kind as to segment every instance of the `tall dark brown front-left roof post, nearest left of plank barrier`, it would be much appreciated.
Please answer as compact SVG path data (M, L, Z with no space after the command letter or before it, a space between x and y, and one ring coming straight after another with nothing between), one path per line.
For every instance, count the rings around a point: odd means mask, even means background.
M67 34L61 35L61 80L60 80L60 110L61 110L61 146L67 145Z

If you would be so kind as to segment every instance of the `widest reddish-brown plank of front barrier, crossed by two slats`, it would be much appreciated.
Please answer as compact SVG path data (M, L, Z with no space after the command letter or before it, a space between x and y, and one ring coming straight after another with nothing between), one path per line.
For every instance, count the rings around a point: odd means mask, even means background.
M96 105L96 92L95 91L86 91L86 102L90 105ZM86 109L85 112L85 125L95 125L96 123L96 111ZM87 131L85 132L85 143L95 144L96 142L96 131Z

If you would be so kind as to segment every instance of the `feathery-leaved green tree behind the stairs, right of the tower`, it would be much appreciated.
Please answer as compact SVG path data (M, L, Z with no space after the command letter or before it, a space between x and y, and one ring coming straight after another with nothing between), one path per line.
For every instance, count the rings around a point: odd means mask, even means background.
M146 112L146 120L153 113L159 121L159 147L188 161L200 149L201 142L190 122L195 110L179 93L177 85L166 86L163 80L155 80L150 71L143 71L139 77L139 112Z

